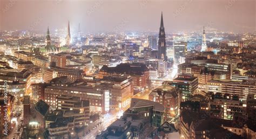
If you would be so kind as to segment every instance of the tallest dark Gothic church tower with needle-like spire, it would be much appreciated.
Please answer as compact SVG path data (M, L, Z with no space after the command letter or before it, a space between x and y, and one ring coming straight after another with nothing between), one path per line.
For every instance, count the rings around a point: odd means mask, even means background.
M167 59L166 57L166 41L165 41L165 30L164 30L164 19L163 12L161 12L161 24L159 29L158 37L158 59Z

